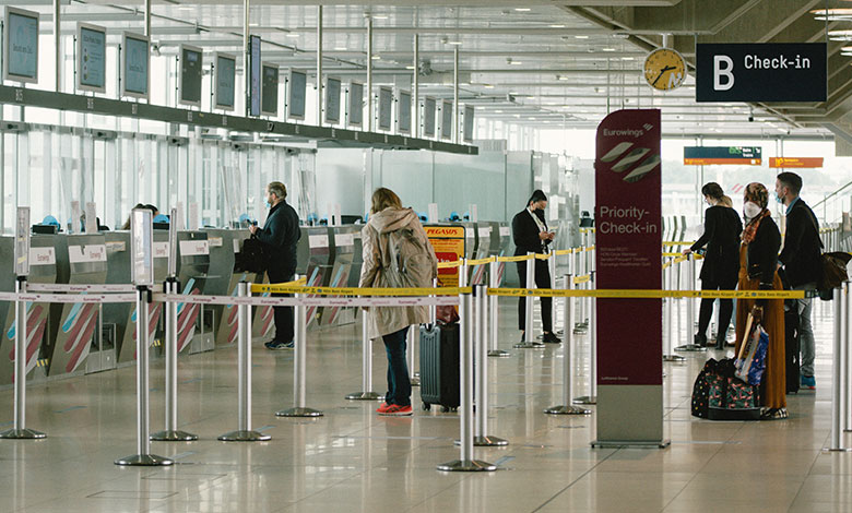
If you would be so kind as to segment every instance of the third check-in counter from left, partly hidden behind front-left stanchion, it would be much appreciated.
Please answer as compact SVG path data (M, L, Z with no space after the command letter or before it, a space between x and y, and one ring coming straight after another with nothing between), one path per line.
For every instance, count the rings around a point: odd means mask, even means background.
M109 232L105 232L106 237L109 237ZM127 275L113 274L113 267L108 271L108 276L114 276L117 279L116 283L130 283L130 232L129 231L114 231L113 234L127 234L128 240L128 255L127 255ZM109 239L107 239L109 240ZM168 277L168 230L154 230L154 289L162 290L161 284ZM107 258L109 256L109 244L107 244ZM109 263L109 262L107 262ZM111 283L111 282L107 282ZM164 311L162 302L152 302L149 307L147 315L147 333L149 341L152 346L161 347L162 343L156 337L157 326L159 325L161 315ZM119 324L120 335L118 336L118 365L134 361L137 357L137 306L130 305L129 309L123 312L123 321ZM106 322L106 319L105 319Z

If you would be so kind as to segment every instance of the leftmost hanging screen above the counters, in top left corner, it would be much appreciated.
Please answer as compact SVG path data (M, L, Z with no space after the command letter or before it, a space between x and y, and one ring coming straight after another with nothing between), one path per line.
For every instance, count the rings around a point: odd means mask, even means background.
M38 13L5 8L3 77L38 82Z

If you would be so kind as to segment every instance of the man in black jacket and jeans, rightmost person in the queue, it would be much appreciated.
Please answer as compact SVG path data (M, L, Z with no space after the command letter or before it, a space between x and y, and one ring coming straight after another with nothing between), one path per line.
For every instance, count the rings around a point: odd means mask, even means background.
M778 265L794 290L816 290L823 272L820 262L819 222L798 196L802 178L794 172L782 172L776 179L778 201L786 206L784 246ZM810 325L810 298L797 299L798 343L802 348L802 386L816 389L814 379L814 330Z

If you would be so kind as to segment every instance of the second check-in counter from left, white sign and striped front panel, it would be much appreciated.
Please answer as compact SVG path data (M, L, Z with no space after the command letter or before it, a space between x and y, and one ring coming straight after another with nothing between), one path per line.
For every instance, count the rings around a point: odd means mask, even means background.
M107 251L102 234L68 235L56 238L57 283L106 283ZM83 370L100 370L99 351L95 367L86 369L92 351L100 348L99 303L56 303L50 306L50 337L47 344L49 377L71 374ZM109 362L113 356L107 357Z

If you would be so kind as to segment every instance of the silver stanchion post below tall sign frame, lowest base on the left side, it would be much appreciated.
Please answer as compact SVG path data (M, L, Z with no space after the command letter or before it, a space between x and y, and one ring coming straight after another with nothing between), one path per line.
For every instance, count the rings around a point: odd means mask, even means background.
M159 466L171 465L174 460L151 454L149 429L149 386L147 386L147 315L151 289L147 286L137 287L137 454L116 460L116 465L122 466Z

